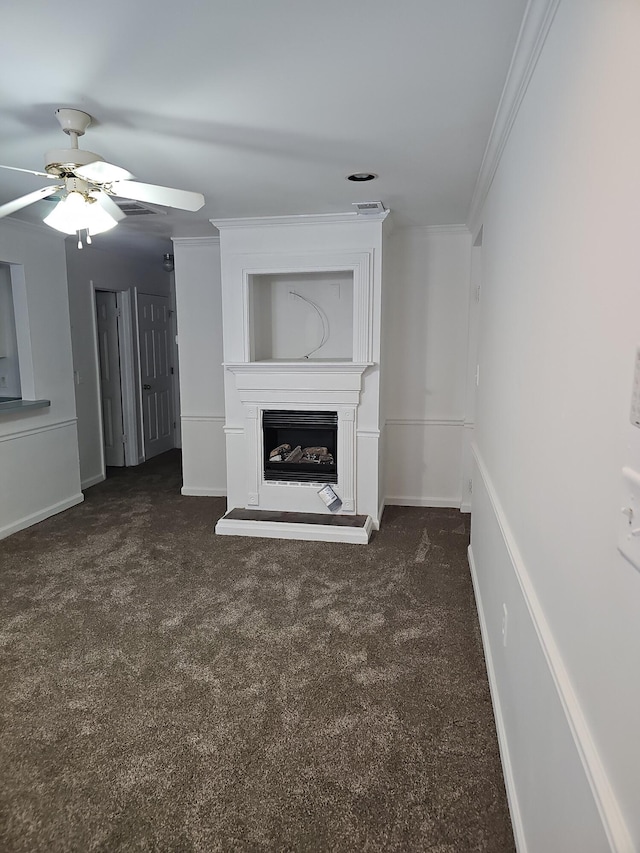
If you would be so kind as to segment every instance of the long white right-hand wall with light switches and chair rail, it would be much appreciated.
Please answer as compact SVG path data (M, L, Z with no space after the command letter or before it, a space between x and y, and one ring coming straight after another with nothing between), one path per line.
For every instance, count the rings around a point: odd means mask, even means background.
M640 849L639 44L636 0L560 2L481 216L471 555L530 853Z

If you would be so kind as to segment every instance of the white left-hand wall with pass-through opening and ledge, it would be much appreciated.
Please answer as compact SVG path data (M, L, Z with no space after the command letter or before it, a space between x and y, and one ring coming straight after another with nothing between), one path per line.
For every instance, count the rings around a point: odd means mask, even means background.
M21 266L32 361L25 399L51 406L0 414L0 537L82 501L64 243L3 219L0 262ZM21 354L22 355L22 354Z

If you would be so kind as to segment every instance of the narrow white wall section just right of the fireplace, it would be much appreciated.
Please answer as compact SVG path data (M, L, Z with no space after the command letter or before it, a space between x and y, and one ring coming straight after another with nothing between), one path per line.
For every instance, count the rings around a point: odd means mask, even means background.
M387 503L459 507L471 236L404 228L385 270Z

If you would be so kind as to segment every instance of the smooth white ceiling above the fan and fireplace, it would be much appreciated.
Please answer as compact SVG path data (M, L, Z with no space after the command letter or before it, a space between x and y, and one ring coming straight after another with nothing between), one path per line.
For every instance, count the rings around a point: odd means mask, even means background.
M206 198L195 214L123 222L111 240L374 199L398 225L461 223L525 5L13 0L2 16L0 162L42 169L45 150L67 145L53 111L71 106L95 118L81 147ZM346 181L355 171L380 177ZM39 186L1 171L0 203Z

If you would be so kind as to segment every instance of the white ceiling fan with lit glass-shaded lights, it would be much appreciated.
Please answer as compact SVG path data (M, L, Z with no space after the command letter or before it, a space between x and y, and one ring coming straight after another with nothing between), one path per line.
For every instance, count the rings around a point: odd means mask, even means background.
M81 249L83 239L91 243L92 234L108 231L124 218L125 214L113 201L112 196L177 207L181 210L195 211L203 206L202 193L132 181L133 175L126 169L106 163L99 154L78 148L78 137L83 136L91 124L91 116L88 113L82 110L58 109L55 116L62 130L70 137L71 145L69 148L48 151L45 154L44 172L0 165L0 169L48 178L55 182L54 185L42 187L0 205L0 218L61 192L62 199L45 217L44 222L64 234L76 234L78 248Z

